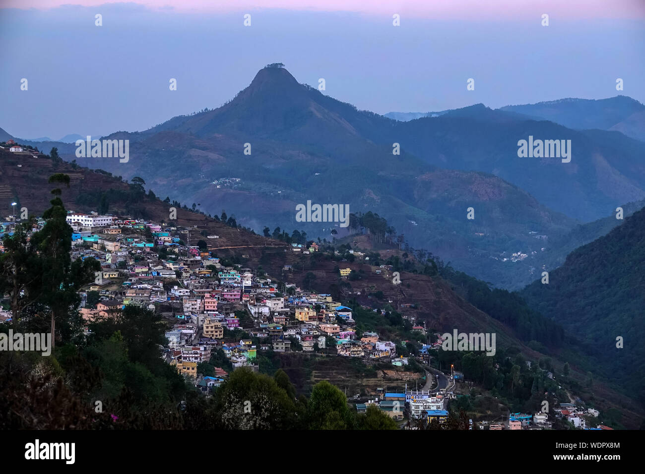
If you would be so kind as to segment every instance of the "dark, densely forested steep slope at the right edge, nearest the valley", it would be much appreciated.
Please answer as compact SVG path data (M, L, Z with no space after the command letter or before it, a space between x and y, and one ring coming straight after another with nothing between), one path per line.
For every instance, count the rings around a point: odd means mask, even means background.
M645 208L577 248L522 291L532 308L575 333L599 368L645 402Z

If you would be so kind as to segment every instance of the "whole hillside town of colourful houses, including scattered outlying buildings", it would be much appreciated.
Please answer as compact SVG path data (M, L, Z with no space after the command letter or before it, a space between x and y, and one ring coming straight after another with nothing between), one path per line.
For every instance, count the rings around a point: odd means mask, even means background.
M397 354L397 345L404 347L406 341L383 339L376 331L357 334L355 311L333 301L332 295L303 290L294 283L279 283L257 268L231 264L215 257L202 240L196 246L186 244L190 233L201 237L195 228L95 212L68 211L66 221L73 230L72 259L93 257L101 264L94 282L80 291L83 320L115 317L126 306L163 315L168 324L168 343L160 348L161 357L206 396L221 386L232 370L259 371L258 357L263 353L344 357L366 365L385 363L393 370L415 365L422 369L416 375L404 372L413 377L410 386L408 381L400 386L402 391L377 387L370 393L348 396L348 403L357 413L377 406L401 428L418 430L423 425L444 424L448 404L464 397L471 386L464 383L459 371L442 373L430 368L433 351L441 350L445 335L426 334L424 325L412 316L404 318L410 320L412 330L426 336L427 344L421 345L416 357L404 357ZM1 224L0 237L12 235L16 222L15 216L8 217ZM37 219L34 230L44 225L43 219ZM216 239L217 235L204 237ZM284 252L314 253L319 248L315 242L308 242L306 246L287 246ZM0 251L4 251L1 245ZM290 270L290 265L284 270ZM380 274L390 270L381 265L373 271ZM341 278L351 273L350 268L339 269ZM10 322L11 318L11 311L0 313L0 322ZM204 373L203 364L212 364L212 371ZM530 366L530 362L527 364ZM547 375L553 379L552 373ZM413 382L417 385L414 390ZM423 384L421 390L419 382ZM568 420L576 428L610 430L602 425L587 426L586 419L597 416L597 410L582 404L560 403L555 409L555 417ZM470 430L548 430L552 424L541 412L510 413L503 418L471 419Z

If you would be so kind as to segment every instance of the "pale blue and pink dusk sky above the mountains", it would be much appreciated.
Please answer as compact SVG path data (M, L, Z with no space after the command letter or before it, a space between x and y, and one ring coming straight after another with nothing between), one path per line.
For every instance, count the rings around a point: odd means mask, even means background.
M144 130L223 104L273 62L381 114L617 94L645 103L645 0L74 3L0 0L0 128L14 136Z

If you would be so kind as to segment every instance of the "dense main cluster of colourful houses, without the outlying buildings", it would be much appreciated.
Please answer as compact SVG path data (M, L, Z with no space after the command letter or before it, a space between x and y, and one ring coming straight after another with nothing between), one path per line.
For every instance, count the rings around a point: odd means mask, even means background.
M72 258L94 257L101 263L94 284L81 293L83 318L110 317L128 305L172 308L174 323L166 332L163 357L201 388L218 386L226 377L221 368L217 377L206 378L197 370L220 350L233 370L257 370L261 351L396 357L395 343L382 341L377 333L356 337L352 308L331 295L288 283L279 291L272 279L251 268L226 265L210 252L186 245L186 234L198 232L194 228L95 212L70 211L66 220L73 230ZM317 244L308 251L316 252ZM88 291L97 291L99 301L86 304ZM252 339L241 339L243 332Z

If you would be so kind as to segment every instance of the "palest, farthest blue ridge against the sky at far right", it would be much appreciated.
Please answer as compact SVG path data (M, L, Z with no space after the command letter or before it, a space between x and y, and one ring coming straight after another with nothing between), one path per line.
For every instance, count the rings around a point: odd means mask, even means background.
M509 105L500 110L530 115L578 130L617 130L628 137L645 138L645 105L626 95L609 99L560 99L537 104Z

